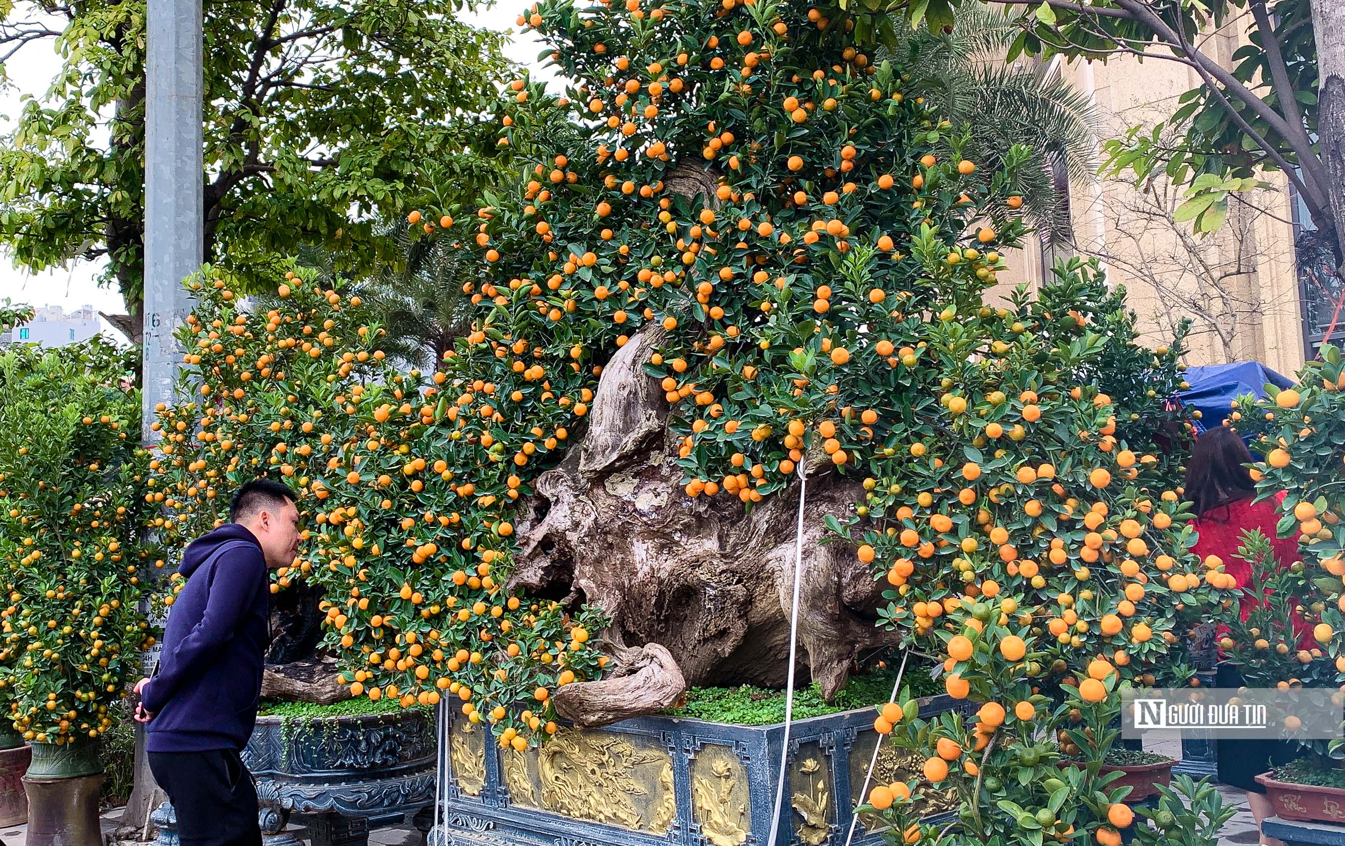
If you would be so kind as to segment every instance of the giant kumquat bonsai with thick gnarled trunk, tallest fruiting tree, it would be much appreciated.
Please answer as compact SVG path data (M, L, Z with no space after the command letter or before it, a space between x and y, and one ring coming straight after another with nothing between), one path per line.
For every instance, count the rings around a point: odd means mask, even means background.
M1050 627L1048 673L1068 678L1060 662L1087 647L1145 681L1190 675L1167 653L1228 576L1185 553L1169 457L1188 434L1165 408L1180 338L1138 348L1123 294L1083 262L1040 295L986 295L1024 234L1026 150L976 161L837 9L541 3L521 24L576 85L551 99L514 82L502 142L568 105L589 144L488 207L409 223L480 261L476 330L444 372L496 393L463 389L464 411L527 419L534 396L570 397L582 431L519 520L519 579L601 606L617 643L677 654L670 667L646 650L663 682L646 698L585 686L569 716L655 710L744 673L783 681L779 657L753 650L788 622L795 500L773 494L800 474L820 504L806 538L858 548L803 561L800 638L824 693L861 651L904 638L861 619L882 603L872 569L912 637L946 602L1014 591ZM526 427L490 435L537 462ZM620 496L615 473L633 477ZM625 538L603 537L612 522ZM730 522L764 567L730 560L746 552L733 529L699 540ZM677 549L674 524L697 540ZM713 599L725 584L741 610ZM701 607L650 614L670 598Z

